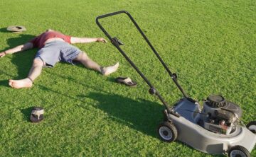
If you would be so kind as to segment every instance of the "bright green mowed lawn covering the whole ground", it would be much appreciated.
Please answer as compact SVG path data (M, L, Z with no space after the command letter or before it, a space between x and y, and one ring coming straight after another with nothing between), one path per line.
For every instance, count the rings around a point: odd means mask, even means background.
M95 18L119 10L132 14L191 98L221 94L242 107L245 124L256 119L255 1L1 0L0 52L48 28L105 37ZM182 97L127 16L101 22L170 105ZM8 33L9 25L27 31ZM59 63L43 69L33 88L17 90L8 80L27 76L37 50L0 59L0 156L211 156L159 140L164 107L110 42L76 46L102 66L119 62L119 70L102 76ZM115 83L118 76L138 86ZM29 122L33 106L45 109L39 124Z

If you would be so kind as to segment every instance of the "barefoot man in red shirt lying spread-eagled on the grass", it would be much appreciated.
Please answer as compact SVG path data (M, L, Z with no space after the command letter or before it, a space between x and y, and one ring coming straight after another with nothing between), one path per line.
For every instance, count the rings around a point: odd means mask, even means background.
M81 62L88 69L99 71L102 75L109 75L117 71L119 63L113 66L103 67L92 61L85 52L82 52L70 44L88 43L88 42L107 42L103 38L87 38L87 37L71 37L63 35L54 30L46 30L46 32L33 38L24 45L19 45L12 49L0 52L0 57L6 54L13 54L38 47L36 57L33 59L33 65L29 71L28 77L21 80L9 80L9 85L12 88L31 88L33 81L41 74L43 66L53 67L57 62L63 61L73 64L73 61Z

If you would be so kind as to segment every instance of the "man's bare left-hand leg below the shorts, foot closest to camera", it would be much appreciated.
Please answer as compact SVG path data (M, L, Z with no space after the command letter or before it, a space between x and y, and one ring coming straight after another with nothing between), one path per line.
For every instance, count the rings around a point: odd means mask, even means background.
M9 80L9 86L12 88L31 88L33 81L41 74L44 64L45 63L39 57L33 59L33 65L29 71L28 77L21 80Z

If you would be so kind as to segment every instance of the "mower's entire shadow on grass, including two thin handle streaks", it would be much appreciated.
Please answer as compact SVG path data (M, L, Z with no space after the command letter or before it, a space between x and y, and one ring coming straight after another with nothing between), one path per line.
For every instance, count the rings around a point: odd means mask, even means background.
M159 103L154 103L144 99L133 100L131 98L125 98L122 95L116 95L109 91L105 91L100 86L90 86L87 83L73 79L72 76L55 74L53 71L47 71L47 73L58 76L61 79L68 79L69 81L85 86L85 88L92 88L95 92L89 93L88 95L81 94L72 96L55 91L46 86L36 85L39 86L41 90L52 92L68 99L78 100L81 103L77 106L84 110L95 107L106 112L113 121L124 124L124 126L142 132L143 134L153 137L157 136L156 128L163 118L161 111L164 110L164 107L159 105ZM108 81L114 82L114 78L110 78ZM86 102L85 98L90 98L99 103L98 105L89 104Z

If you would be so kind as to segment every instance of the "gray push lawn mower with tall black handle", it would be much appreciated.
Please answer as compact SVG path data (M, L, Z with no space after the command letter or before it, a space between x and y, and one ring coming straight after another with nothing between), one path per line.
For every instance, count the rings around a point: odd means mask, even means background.
M139 33L144 37L146 43L156 54L161 64L166 69L171 79L174 81L183 98L170 107L159 91L152 86L150 81L144 76L137 66L132 62L127 54L121 49L124 43L117 37L112 37L100 24L100 19L124 13L129 16ZM224 154L232 157L250 156L250 152L256 143L256 121L252 121L245 126L240 120L242 116L241 108L235 103L225 100L222 95L210 95L203 100L203 108L198 101L190 98L181 88L177 81L177 75L171 73L165 62L159 56L143 33L139 25L134 21L127 11L117 11L107 13L96 18L96 23L103 33L112 42L112 45L119 50L125 59L132 65L142 79L149 85L149 93L156 95L164 104L164 122L159 124L158 134L161 140L171 142L181 141L188 144L193 149L210 154Z

